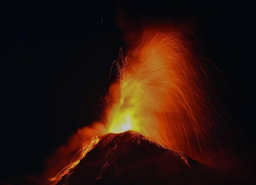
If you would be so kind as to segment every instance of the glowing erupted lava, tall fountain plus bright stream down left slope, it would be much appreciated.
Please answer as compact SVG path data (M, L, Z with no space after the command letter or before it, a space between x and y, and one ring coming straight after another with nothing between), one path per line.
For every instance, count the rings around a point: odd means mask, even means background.
M178 33L144 34L128 56L121 54L114 64L117 82L105 98L103 120L109 133L134 130L213 166L210 158L219 146L217 121L204 88L207 77L184 38ZM52 180L68 177L98 141L93 138Z

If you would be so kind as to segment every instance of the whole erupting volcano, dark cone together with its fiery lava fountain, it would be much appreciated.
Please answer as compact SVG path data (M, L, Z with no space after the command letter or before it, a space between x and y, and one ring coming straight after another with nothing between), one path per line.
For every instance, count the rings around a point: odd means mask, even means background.
M222 127L218 111L206 91L209 79L181 34L146 32L126 57L120 50L110 74L116 81L104 97L103 119L98 123L101 130L88 127L78 132L78 136L92 139L78 148L51 182L225 181L212 170L218 169L225 157L218 137L221 132L217 128Z

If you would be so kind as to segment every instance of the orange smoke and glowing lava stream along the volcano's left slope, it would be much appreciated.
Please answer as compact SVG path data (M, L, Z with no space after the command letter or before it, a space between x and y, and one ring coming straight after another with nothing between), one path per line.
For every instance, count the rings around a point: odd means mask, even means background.
M98 137L107 133L106 126L100 122L78 129L76 134L68 139L68 143L60 146L46 161L47 169L40 178L42 180L36 183L55 184L62 176L70 175L72 173L70 170L97 144Z

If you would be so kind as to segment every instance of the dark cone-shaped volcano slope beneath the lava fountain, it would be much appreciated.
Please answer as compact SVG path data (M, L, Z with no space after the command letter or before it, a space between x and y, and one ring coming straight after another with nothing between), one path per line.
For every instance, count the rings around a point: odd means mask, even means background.
M78 184L228 184L194 159L134 131L107 134L81 159L67 178Z

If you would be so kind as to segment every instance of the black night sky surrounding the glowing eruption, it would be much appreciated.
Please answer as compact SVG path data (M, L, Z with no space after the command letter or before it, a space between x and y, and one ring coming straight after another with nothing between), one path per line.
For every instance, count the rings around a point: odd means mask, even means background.
M1 180L40 174L58 146L97 120L119 48L127 53L136 33L160 23L193 32L197 53L218 67L225 80L217 75L212 84L238 125L230 130L240 133L245 156L253 157L255 8L245 3L2 2Z

